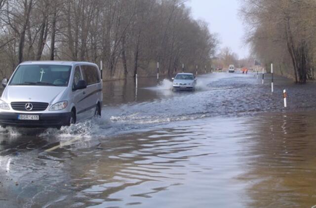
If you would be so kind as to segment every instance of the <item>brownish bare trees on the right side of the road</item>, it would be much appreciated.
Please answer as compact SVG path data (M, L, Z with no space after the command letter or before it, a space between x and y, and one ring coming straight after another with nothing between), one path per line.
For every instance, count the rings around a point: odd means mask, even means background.
M296 82L314 80L316 67L315 0L243 0L247 40L270 69Z

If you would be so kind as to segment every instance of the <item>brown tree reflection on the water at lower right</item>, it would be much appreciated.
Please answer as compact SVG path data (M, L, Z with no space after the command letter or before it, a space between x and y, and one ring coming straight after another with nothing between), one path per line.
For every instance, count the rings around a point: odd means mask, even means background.
M252 118L254 133L244 152L251 207L316 205L316 112L275 113Z

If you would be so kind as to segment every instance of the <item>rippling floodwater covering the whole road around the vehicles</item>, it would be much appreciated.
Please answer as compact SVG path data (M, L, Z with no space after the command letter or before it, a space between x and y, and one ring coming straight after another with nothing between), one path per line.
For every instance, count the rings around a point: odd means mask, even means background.
M240 73L197 83L105 82L101 118L0 129L0 206L315 206L316 85L276 77L272 94Z

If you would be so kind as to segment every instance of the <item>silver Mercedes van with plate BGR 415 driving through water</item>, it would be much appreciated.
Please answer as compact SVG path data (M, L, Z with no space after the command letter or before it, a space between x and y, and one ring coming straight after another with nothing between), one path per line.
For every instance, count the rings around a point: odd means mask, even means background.
M2 86L2 127L60 128L101 116L102 80L96 64L24 62Z

